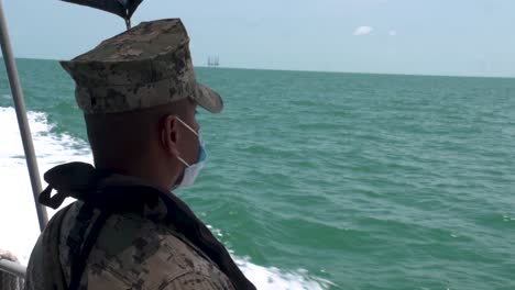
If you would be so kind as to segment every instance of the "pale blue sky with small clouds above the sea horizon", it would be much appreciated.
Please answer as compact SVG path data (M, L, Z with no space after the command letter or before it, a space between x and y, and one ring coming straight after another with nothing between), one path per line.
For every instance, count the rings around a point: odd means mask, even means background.
M123 32L58 0L3 2L17 57L69 59ZM133 24L180 18L194 65L515 77L514 0L145 0Z

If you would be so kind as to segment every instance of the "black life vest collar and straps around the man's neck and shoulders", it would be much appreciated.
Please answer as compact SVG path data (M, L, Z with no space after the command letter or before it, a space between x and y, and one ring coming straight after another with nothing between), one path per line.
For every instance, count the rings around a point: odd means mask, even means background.
M173 224L193 245L217 264L237 290L255 289L232 260L226 247L182 200L152 186L106 186L102 182L114 175L117 172L98 170L84 163L59 165L44 175L48 187L40 194L40 203L57 209L67 197L84 202L67 238L72 261L70 290L78 288L89 252L110 214L142 214L145 205L154 208L160 201L166 205L165 221ZM57 193L51 197L54 189ZM91 224L95 209L100 211L100 216ZM85 234L87 228L91 228L88 235Z

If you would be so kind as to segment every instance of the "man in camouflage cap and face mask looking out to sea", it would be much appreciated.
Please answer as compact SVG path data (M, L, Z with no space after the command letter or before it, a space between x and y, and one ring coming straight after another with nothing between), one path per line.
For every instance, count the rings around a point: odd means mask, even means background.
M25 289L255 289L171 189L206 159L196 107L223 103L195 79L180 20L142 23L62 65L76 82L95 167L45 174L58 208L40 236ZM56 194L51 194L56 190Z

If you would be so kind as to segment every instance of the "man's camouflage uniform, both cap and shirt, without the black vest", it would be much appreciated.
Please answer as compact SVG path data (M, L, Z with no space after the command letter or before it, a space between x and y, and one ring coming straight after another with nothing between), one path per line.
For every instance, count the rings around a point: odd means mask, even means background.
M62 66L76 82L76 100L85 114L140 110L187 97L220 112L220 96L195 79L188 42L179 20L145 22ZM143 181L117 175L110 182ZM31 255L25 289L68 289L66 239L83 207L77 201L51 220ZM235 289L165 215L162 203L146 208L143 215L110 215L87 258L79 289Z

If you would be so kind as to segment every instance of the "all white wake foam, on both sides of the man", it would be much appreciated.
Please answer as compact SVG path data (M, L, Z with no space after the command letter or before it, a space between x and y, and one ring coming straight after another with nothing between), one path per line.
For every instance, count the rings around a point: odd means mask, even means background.
M62 163L92 163L87 144L67 134L51 133L52 124L44 113L29 112L29 123L40 174ZM40 230L23 145L12 108L0 108L0 248L12 252L26 265ZM43 179L42 182L43 187L46 187ZM48 211L48 215L52 216L53 213L54 211ZM330 285L328 281L311 278L303 269L285 271L254 265L244 258L235 257L235 260L258 289L318 290L327 289Z

